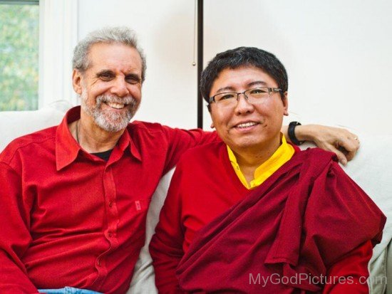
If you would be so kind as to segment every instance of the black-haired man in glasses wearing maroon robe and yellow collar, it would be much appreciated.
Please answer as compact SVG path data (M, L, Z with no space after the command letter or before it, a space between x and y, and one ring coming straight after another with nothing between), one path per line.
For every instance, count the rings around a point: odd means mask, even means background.
M223 142L177 164L150 243L160 293L368 293L385 216L333 153L287 143L287 88L282 63L258 48L203 71Z

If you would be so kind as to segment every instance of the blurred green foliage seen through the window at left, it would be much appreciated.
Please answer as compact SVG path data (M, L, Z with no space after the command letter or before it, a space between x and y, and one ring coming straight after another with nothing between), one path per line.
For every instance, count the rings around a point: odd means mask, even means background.
M38 108L38 5L0 4L0 111Z

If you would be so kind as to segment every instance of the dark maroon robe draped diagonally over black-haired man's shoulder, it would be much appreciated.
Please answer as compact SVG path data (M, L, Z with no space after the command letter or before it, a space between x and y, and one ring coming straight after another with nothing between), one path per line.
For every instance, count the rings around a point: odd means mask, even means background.
M381 241L385 221L334 154L297 152L197 233L177 278L189 292L319 292L319 280L333 282L325 275L339 258Z

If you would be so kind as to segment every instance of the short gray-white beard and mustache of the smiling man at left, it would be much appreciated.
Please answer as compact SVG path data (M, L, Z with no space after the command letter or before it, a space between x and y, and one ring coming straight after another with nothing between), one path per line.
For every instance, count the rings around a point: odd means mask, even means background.
M96 98L96 105L91 106L87 104L87 90L83 87L81 95L81 107L91 117L94 122L107 132L118 132L125 129L131 118L135 115L138 110L137 101L130 95L123 98L119 98L116 95L104 94L99 95ZM111 110L102 110L102 103L123 103L126 111L115 112Z

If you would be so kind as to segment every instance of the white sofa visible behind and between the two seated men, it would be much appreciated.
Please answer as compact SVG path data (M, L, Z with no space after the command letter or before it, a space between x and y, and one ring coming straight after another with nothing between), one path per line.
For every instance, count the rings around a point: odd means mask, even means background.
M0 112L0 151L15 137L57 125L70 105L59 101L42 110L26 112ZM346 172L365 190L388 217L383 240L373 251L369 263L371 293L392 293L392 136L361 135L361 148L356 158L349 162ZM304 147L309 147L304 146ZM143 247L128 293L157 293L154 271L148 253L148 242L153 235L160 209L165 200L172 171L163 177L155 191L147 216L146 244Z

